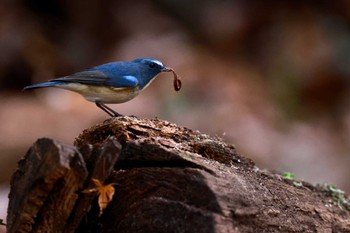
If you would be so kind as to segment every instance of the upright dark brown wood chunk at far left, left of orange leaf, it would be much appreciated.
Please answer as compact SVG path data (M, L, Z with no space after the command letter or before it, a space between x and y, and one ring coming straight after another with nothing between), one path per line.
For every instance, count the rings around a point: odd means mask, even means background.
M39 139L12 177L7 232L62 231L87 175L76 148Z

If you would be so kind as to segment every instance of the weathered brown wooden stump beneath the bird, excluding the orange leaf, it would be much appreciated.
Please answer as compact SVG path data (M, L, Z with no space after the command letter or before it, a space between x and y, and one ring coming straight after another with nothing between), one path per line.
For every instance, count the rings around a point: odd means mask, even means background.
M92 179L113 184L100 214ZM159 119L117 117L65 145L39 139L11 180L13 232L350 232L316 187L260 170L233 145Z

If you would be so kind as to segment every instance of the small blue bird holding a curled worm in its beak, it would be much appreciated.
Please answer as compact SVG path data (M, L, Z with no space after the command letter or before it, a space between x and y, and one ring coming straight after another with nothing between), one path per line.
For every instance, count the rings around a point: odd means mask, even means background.
M127 102L135 98L161 72L173 72L174 88L181 88L181 81L172 68L164 66L152 58L139 58L128 62L111 62L48 82L33 84L24 90L59 87L81 94L86 100L94 102L112 117L120 116L105 105Z

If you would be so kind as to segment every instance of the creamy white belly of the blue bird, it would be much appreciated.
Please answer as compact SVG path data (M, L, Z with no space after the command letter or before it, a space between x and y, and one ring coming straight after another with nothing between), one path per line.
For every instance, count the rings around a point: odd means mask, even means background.
M75 91L88 101L95 102L100 101L103 103L124 103L135 98L139 92L139 87L102 87L102 86L91 86L80 83L67 83L59 85L57 87Z

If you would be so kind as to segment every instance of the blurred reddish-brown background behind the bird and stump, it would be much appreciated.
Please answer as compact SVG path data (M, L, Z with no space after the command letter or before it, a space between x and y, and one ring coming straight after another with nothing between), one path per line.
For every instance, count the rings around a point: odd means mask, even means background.
M350 191L350 2L3 0L0 218L17 161L40 137L69 144L108 116L31 83L117 60L174 68L118 112L233 143L260 168Z

